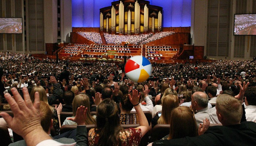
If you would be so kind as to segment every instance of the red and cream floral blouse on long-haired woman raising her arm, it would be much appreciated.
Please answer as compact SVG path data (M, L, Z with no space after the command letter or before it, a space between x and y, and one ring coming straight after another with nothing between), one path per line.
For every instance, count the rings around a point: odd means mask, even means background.
M89 146L95 146L99 141L99 134L95 133L95 129L92 128L88 133ZM140 128L128 128L124 132L120 131L119 139L122 142L120 146L138 146L140 139L142 138L142 131ZM119 145L118 143L116 145Z

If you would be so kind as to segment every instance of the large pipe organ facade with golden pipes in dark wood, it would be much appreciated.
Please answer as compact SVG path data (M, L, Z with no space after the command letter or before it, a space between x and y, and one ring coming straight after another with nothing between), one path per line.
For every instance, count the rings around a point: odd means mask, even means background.
M100 30L128 35L162 31L162 14L162 7L146 0L114 1L100 9Z

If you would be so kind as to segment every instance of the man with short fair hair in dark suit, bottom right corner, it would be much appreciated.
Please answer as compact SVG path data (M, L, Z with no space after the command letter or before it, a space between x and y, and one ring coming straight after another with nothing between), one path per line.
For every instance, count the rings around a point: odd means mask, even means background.
M241 122L242 98L238 101L231 95L222 94L217 98L216 114L222 126L212 126L202 135L156 141L153 145L256 145L256 123Z

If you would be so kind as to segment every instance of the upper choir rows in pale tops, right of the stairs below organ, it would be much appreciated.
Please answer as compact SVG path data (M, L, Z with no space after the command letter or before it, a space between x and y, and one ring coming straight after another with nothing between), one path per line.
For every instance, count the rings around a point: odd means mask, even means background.
M172 31L157 32L155 34L153 33L139 34L139 35L115 35L115 34L104 33L104 37L107 43L120 44L121 42L130 42L132 44L138 45L138 44L152 42L172 34L174 34L174 32Z

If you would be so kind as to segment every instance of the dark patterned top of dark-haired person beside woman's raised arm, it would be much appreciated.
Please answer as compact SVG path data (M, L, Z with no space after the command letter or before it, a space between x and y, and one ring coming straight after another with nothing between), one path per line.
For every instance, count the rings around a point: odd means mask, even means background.
M120 124L139 124L137 114L119 114Z

